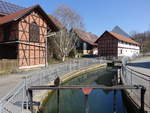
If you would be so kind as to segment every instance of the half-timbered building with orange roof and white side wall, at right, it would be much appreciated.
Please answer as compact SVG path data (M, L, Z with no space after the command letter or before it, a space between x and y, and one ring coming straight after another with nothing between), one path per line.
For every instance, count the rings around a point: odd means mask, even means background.
M99 57L132 57L140 53L138 42L114 32L105 31L96 43L98 44Z

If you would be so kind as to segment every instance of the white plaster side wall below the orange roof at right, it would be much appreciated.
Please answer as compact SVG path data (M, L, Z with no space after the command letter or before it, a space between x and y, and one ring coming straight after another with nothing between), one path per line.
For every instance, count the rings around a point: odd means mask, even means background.
M118 42L118 56L128 56L132 57L134 55L139 55L140 47L125 43L125 42Z

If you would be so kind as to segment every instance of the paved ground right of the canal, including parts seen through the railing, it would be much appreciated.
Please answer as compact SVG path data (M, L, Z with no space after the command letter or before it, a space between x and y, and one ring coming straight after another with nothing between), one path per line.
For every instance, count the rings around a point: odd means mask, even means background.
M142 74L131 74L131 72L128 73L127 71L127 81L128 84L139 84L143 85L146 88L145 92L145 110L150 113L150 56L148 57L142 57L142 58L137 58L134 61L131 61L130 63L127 64L127 66L137 72L146 74L148 76L144 76ZM135 76L133 76L135 75ZM138 75L138 76L137 76ZM138 92L131 91L130 97L135 101L140 106L140 96L138 95ZM135 95L136 94L136 95Z

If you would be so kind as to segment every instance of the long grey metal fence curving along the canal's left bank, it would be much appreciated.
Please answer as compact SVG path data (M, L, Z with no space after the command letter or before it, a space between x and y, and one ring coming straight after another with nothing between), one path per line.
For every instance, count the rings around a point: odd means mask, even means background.
M44 85L54 80L56 76L63 76L66 73L104 62L98 58L80 59L32 71L26 75L24 81L0 100L0 113L29 113L28 109L24 109L28 108L26 89L29 86Z

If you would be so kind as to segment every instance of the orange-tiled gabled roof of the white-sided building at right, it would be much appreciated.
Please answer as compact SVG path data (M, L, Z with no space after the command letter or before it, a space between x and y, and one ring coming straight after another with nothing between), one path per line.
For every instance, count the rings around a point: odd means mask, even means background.
M120 40L120 41L124 41L124 42L130 43L130 44L134 44L134 45L140 45L140 43L138 43L138 42L132 40L132 39L129 38L129 37L125 37L125 36L123 36L123 35L120 35L120 34L114 33L114 32L110 32L110 31L105 31L105 32L99 37L99 39L100 39L104 34L106 34L106 33L108 33L109 35L111 35L112 37L114 37L114 38L116 38L116 39L118 39L118 40ZM99 39L98 39L98 40L99 40ZM98 42L98 40L96 40L96 42Z

